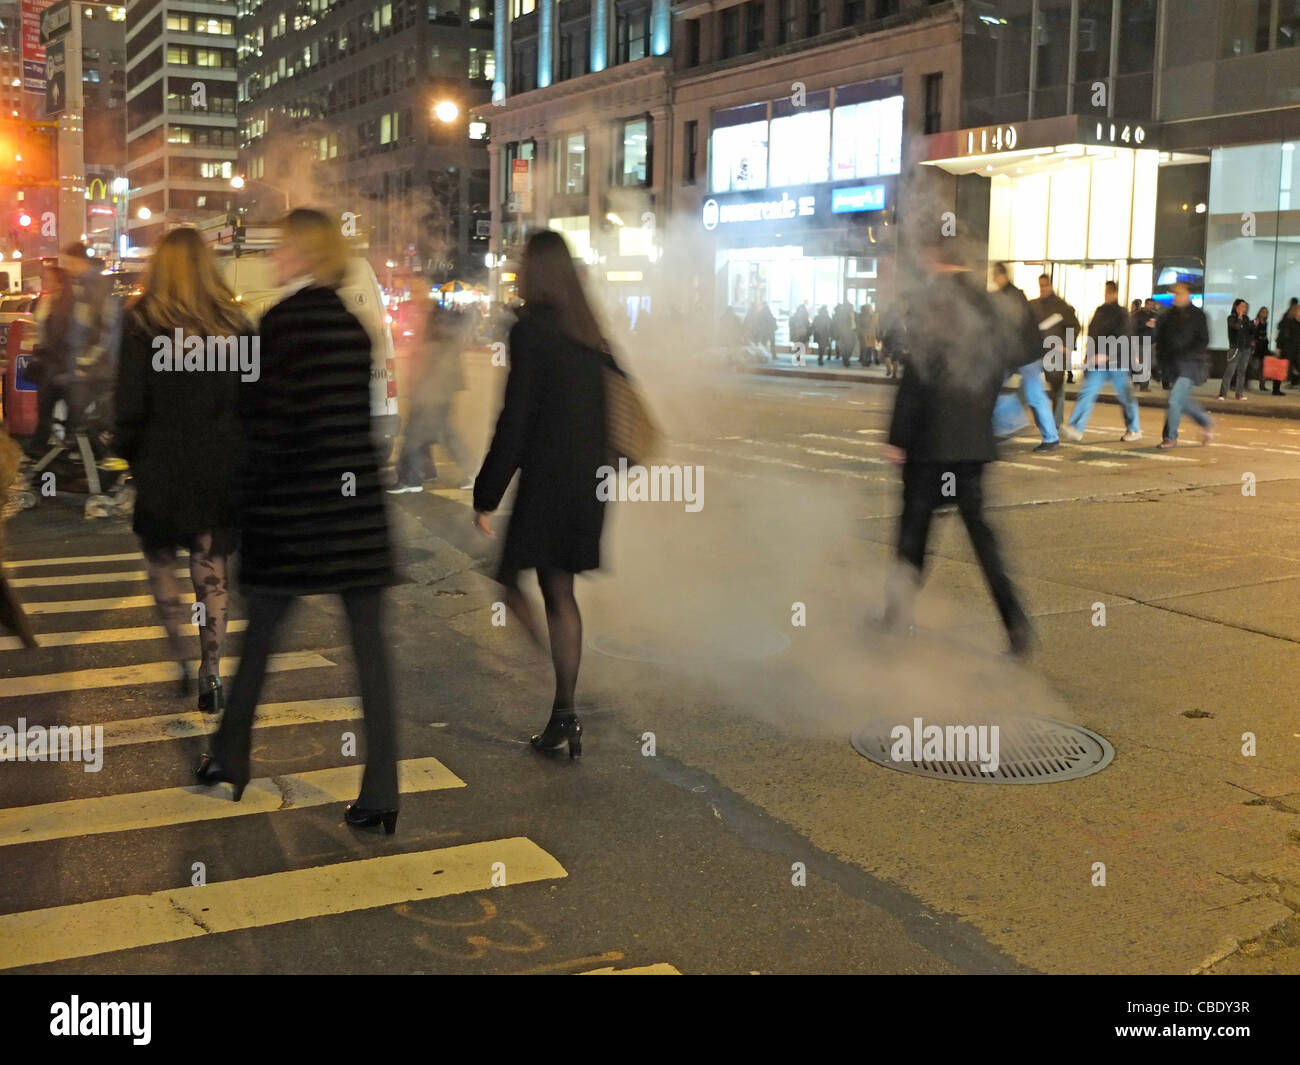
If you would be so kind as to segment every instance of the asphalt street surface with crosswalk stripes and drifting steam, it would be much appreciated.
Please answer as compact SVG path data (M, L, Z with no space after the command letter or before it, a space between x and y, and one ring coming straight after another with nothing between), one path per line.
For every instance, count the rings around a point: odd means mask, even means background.
M471 363L481 454L503 371ZM702 494L614 506L580 590L581 763L526 744L549 667L494 624L469 493L448 471L393 497L391 837L342 823L359 703L337 603L302 602L277 648L237 805L192 787L211 723L173 690L129 525L83 521L73 497L14 518L10 577L65 636L0 642L0 723L100 724L108 746L99 772L0 775L0 967L1300 971L1300 428L1222 416L1213 446L1184 425L1165 453L1162 412L1121 443L1098 406L1084 443L1008 443L988 494L1041 640L1020 664L956 518L935 525L916 638L874 624L892 389L636 368L660 462L698 467ZM954 709L1075 722L1115 758L996 787L849 744Z

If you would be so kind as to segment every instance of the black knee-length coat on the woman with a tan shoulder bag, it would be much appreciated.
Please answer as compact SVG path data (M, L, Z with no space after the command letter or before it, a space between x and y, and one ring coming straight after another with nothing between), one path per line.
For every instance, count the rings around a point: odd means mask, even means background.
M493 511L520 471L499 570L506 584L521 570L580 573L601 564L607 362L567 337L546 308L525 311L510 330L506 399L474 481L474 510Z

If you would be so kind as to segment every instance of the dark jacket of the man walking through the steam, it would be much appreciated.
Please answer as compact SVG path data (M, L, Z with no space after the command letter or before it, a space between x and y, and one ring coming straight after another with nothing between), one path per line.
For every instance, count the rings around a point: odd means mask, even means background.
M907 462L993 462L993 403L1024 364L1023 321L1004 313L968 273L933 278L907 322L907 372L889 443Z

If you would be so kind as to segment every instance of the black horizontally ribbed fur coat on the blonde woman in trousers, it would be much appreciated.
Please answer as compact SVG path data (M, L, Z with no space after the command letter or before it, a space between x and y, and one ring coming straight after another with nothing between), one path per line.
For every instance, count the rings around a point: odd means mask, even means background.
M260 329L261 378L239 394L239 583L304 596L387 584L369 334L321 285L277 303Z

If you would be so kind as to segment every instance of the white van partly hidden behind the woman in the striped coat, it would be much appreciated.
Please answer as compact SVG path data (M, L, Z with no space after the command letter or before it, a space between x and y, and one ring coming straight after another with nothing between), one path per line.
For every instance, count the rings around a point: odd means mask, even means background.
M224 256L217 260L217 267L254 325L283 298L283 290L276 283L276 267L269 255L242 255L238 259ZM393 333L380 282L370 264L352 256L338 294L370 334L370 424L374 427L381 458L387 462L398 434L396 369Z

